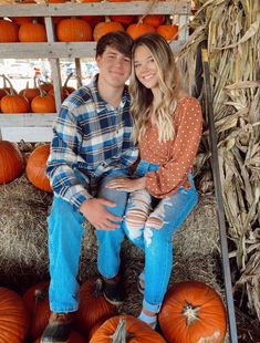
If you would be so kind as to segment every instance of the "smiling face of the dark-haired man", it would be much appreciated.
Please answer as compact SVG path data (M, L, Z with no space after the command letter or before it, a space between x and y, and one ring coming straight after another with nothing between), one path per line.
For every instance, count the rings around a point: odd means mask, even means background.
M100 81L107 86L122 87L129 77L131 59L118 50L107 46L102 55L96 56Z

